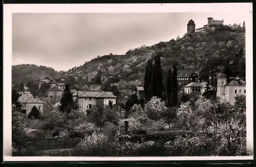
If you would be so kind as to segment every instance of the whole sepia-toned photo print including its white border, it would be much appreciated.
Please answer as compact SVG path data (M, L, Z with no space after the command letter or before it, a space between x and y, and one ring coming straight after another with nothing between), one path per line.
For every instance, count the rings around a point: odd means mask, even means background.
M252 3L83 5L4 11L6 156L252 158Z

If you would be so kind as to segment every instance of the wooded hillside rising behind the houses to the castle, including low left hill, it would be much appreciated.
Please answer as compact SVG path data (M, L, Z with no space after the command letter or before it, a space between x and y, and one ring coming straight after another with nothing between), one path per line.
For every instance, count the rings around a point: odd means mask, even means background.
M163 79L166 78L167 69L174 63L178 64L178 70L193 70L199 75L215 68L229 67L231 75L245 76L245 30L240 26L224 25L215 31L185 34L176 40L130 49L124 55L98 56L67 72L57 72L44 66L13 66L12 79L13 82L25 82L45 76L63 78L79 71L89 74L108 69L121 79L117 83L118 88L129 94L135 85L143 85L145 64L160 51Z

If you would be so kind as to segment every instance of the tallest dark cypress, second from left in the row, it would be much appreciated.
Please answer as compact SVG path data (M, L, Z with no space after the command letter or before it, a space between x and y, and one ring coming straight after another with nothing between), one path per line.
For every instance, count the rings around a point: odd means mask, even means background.
M161 67L161 52L155 57L155 64L153 66L153 96L163 98L163 74Z

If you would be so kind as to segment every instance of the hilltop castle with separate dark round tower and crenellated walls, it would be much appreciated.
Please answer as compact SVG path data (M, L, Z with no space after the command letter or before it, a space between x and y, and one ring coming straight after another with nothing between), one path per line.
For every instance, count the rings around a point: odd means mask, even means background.
M216 26L223 25L224 20L214 20L212 17L208 17L208 23L203 27L196 30L196 24L191 19L187 23L187 34L196 32L206 31L207 29L214 30Z

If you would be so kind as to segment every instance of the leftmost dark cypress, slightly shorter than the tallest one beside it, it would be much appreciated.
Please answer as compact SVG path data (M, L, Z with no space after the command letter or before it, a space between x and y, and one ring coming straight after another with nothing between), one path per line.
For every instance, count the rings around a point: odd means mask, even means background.
M145 99L150 101L152 97L152 60L148 60L145 67L144 92Z

